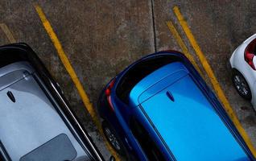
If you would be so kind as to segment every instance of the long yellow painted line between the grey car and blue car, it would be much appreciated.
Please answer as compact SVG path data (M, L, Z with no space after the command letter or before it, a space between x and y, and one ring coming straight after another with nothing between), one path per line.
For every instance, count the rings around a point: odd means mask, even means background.
M88 110L89 114L93 118L93 122L96 124L98 130L100 133L103 135L103 132L101 130L101 122L97 118L97 113L95 112L93 105L89 101L89 97L85 93L85 89L83 88L83 85L81 85L81 81L79 81L79 78L76 76L75 70L72 68L72 64L69 62L68 57L66 56L62 45L60 44L59 39L57 38L56 33L53 31L51 23L47 20L45 14L43 13L42 8L39 5L35 5L35 10L39 14L39 18L41 19L43 23L44 29L47 31L47 34L50 36L52 39L52 43L56 47L56 51L58 55L60 56L60 60L64 64L64 67L68 71L68 74L71 76L73 83L76 85L76 89L78 90L78 93L81 96L81 99L85 105L85 108ZM106 142L106 140L105 140ZM118 154L114 151L114 149L109 145L108 142L106 142L106 146L108 147L110 153L114 155L114 157L117 160L120 160Z

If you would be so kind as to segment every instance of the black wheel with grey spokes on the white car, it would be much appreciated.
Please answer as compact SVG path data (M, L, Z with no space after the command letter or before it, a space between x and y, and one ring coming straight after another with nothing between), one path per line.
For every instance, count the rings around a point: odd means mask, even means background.
M239 95L245 98L246 100L251 100L250 87L245 77L242 76L242 74L237 70L233 71L232 81Z

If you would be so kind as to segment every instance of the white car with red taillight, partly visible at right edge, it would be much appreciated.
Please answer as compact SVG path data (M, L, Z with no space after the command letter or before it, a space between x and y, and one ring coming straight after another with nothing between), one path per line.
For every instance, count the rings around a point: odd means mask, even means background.
M230 64L233 68L233 85L256 109L256 34L246 39L233 52Z

